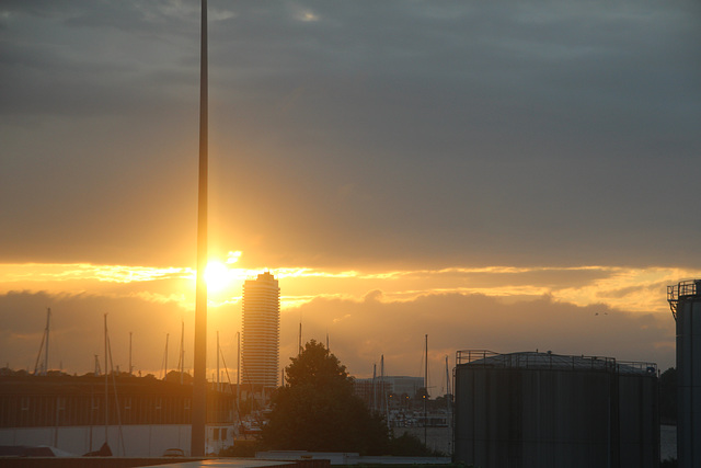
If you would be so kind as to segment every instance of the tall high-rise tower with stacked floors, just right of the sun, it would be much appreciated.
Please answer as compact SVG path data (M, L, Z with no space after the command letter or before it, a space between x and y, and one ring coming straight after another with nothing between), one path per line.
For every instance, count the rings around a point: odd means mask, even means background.
M265 272L243 284L241 378L244 386L277 387L279 330L280 289L277 279Z

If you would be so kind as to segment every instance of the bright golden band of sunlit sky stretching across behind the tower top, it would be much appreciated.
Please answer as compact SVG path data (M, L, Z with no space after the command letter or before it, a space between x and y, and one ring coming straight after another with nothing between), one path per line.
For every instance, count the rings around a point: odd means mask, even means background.
M243 283L268 269L240 267L240 251L211 259L206 282L212 307L241 299ZM238 267L239 266L239 267ZM317 297L365 300L369 290L382 290L386 301L406 303L425 295L480 294L504 300L550 296L577 306L604 304L632 312L668 313L666 287L679 278L699 277L701 271L678 267L623 266L453 266L437 270L327 271L313 267L278 267L285 296L283 309L294 309ZM176 303L193 307L189 267L94 265L89 263L0 263L0 294L16 290L48 294L91 294L139 297L150 303Z

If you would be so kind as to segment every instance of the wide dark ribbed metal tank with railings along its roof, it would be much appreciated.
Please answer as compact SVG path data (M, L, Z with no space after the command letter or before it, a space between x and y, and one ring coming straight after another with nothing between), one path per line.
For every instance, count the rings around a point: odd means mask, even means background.
M481 468L658 467L657 366L459 351L455 461Z

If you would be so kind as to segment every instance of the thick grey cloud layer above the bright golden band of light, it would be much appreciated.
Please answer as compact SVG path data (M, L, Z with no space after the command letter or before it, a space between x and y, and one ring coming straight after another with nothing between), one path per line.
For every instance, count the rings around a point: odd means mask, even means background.
M194 222L197 9L8 4L2 182L30 204L9 208L0 254L37 260L53 241L38 220L70 210L71 228L55 227L60 252L43 256L191 261L158 239ZM211 1L210 12L212 212L237 220L212 221L223 249L273 266L692 265L701 253L701 221L670 209L700 195L691 3ZM46 169L73 160L92 163ZM102 187L113 174L162 201ZM78 192L85 180L97 187ZM73 209L85 193L106 208ZM74 230L85 242L71 247Z

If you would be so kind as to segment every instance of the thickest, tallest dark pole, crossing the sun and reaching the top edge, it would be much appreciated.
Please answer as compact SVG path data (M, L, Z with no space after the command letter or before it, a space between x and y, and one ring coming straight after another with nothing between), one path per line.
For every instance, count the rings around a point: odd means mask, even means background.
M207 418L207 0L202 0L199 52L199 179L197 193L197 290L195 296L195 351L191 455L205 456Z

